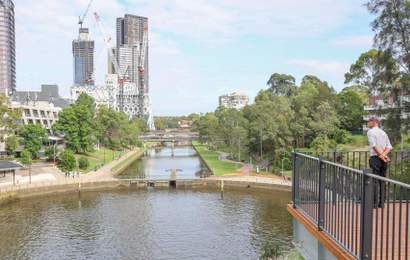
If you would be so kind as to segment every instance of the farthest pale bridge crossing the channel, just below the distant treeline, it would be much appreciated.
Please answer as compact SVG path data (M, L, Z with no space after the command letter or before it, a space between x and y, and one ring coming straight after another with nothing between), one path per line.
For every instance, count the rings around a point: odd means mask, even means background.
M182 130L152 131L139 136L145 142L191 142L198 138L198 133Z

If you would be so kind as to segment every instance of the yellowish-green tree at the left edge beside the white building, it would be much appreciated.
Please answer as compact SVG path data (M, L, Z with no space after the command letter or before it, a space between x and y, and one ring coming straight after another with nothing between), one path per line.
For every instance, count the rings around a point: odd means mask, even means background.
M21 111L9 107L8 98L0 94L0 142L12 135L18 129L18 123L21 118Z

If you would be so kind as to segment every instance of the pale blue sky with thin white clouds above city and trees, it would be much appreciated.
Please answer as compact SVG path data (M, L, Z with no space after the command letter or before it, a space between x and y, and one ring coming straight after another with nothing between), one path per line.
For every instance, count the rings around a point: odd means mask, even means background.
M317 75L336 90L372 47L373 19L362 0L94 0L84 22L95 40L97 84L107 51L97 12L115 39L115 19L149 18L150 95L154 115L214 111L239 91L253 100L274 73ZM58 84L69 96L72 40L88 0L14 0L17 89ZM115 43L115 40L112 41Z

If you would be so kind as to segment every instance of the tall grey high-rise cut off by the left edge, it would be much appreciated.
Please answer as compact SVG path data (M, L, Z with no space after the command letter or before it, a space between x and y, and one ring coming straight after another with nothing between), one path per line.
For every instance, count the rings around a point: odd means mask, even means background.
M14 4L0 0L0 94L16 90L16 41Z

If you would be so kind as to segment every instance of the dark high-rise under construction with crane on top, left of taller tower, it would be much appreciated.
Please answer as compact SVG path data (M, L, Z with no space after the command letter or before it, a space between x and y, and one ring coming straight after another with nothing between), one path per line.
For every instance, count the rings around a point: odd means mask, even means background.
M73 41L74 85L94 85L94 41L88 28L80 28L78 39Z

